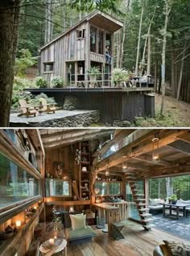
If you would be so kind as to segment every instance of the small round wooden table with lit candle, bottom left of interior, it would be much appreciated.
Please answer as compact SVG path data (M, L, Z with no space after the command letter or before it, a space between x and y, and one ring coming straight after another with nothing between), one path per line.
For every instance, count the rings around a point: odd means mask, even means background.
M52 243L52 241L54 242ZM67 241L61 238L56 238L56 240L49 239L47 241L44 241L43 244L39 246L39 251L44 256L51 256L60 252L62 252L63 255L67 256Z

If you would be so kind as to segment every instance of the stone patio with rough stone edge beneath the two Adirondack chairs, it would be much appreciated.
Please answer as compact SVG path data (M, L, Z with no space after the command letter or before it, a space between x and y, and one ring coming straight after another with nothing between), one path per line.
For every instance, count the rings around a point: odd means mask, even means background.
M99 120L98 111L65 111L59 110L55 114L42 113L37 116L10 115L10 127L87 127Z

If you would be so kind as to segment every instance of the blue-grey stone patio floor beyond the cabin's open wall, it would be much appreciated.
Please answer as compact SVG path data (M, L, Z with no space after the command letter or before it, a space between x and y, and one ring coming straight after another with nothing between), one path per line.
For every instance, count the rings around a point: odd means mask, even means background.
M176 237L181 237L190 241L190 217L180 217L176 220L171 217L163 217L163 214L151 216L154 219L154 229L172 233Z

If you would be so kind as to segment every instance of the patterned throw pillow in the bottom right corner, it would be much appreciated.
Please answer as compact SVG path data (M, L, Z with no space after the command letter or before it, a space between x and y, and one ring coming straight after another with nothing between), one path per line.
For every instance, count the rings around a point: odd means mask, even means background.
M190 256L190 246L185 245L179 241L165 241L168 250L170 250L172 256Z

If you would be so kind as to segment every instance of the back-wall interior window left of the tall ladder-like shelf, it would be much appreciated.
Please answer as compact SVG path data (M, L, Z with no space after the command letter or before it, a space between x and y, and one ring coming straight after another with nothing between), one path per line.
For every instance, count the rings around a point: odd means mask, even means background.
M46 178L46 196L72 196L70 180Z

